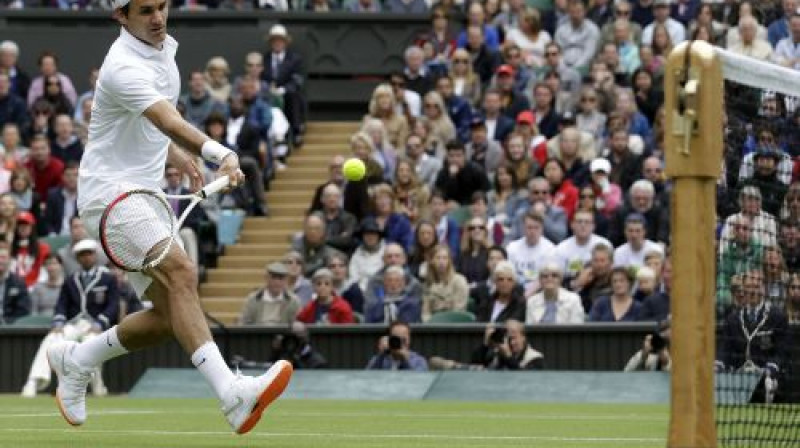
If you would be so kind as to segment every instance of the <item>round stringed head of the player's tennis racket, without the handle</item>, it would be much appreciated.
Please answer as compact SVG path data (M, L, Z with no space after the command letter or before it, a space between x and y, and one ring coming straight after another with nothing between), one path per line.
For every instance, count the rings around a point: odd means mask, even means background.
M135 191L112 204L101 224L101 242L118 266L140 271L158 264L169 249L174 215L164 198Z

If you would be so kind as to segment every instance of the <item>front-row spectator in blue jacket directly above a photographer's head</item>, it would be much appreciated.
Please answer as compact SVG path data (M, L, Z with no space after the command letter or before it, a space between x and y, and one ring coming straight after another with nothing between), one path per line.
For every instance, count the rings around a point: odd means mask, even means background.
M367 323L391 323L396 320L420 322L422 297L417 288L406 282L406 272L400 266L389 266L383 271L383 287L376 300L368 302Z

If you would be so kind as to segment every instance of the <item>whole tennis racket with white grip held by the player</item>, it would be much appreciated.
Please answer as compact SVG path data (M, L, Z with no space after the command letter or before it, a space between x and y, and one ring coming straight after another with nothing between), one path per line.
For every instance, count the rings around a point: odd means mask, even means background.
M133 189L117 196L100 217L100 244L108 259L129 272L157 266L169 253L194 207L228 185L230 178L223 176L192 194ZM185 199L191 202L176 218L168 201Z

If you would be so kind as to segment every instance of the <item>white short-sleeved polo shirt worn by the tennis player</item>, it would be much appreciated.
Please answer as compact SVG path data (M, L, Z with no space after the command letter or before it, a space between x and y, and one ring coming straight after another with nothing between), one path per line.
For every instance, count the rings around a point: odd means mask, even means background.
M142 113L162 99L177 104L177 49L171 36L158 50L125 28L111 45L100 67L80 165L80 210L96 201L110 202L132 186L160 190L170 140Z

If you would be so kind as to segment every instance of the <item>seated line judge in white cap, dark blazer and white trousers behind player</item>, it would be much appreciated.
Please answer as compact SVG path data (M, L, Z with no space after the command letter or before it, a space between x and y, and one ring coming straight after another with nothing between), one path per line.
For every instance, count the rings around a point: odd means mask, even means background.
M47 349L63 340L84 341L113 326L119 314L117 279L108 269L98 265L99 245L85 239L72 248L80 270L64 281L53 316L53 329L44 338L33 359L23 397L35 397L50 384ZM100 369L94 372L92 392L97 396L108 391Z

